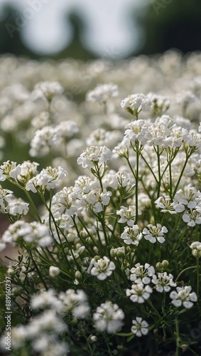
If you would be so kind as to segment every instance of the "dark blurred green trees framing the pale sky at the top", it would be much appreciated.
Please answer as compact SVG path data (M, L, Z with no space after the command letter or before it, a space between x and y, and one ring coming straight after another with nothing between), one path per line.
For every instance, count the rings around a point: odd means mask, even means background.
M47 56L41 56L25 46L21 39L21 28L16 27L16 11L20 12L16 5L1 5L0 53L13 53L32 59L48 57L58 60L70 57L87 61L97 58L97 55L89 51L80 39L87 23L79 9L65 15L66 22L70 22L72 28L72 41L59 53L48 53ZM131 11L129 16L136 21L143 33L143 41L129 57L141 53L146 55L163 53L170 48L177 48L182 53L201 50L200 0L146 1L146 4L136 8L135 13ZM11 25L13 38L6 27L8 23ZM133 31L138 31L137 27L134 26ZM118 56L114 59L118 59Z

